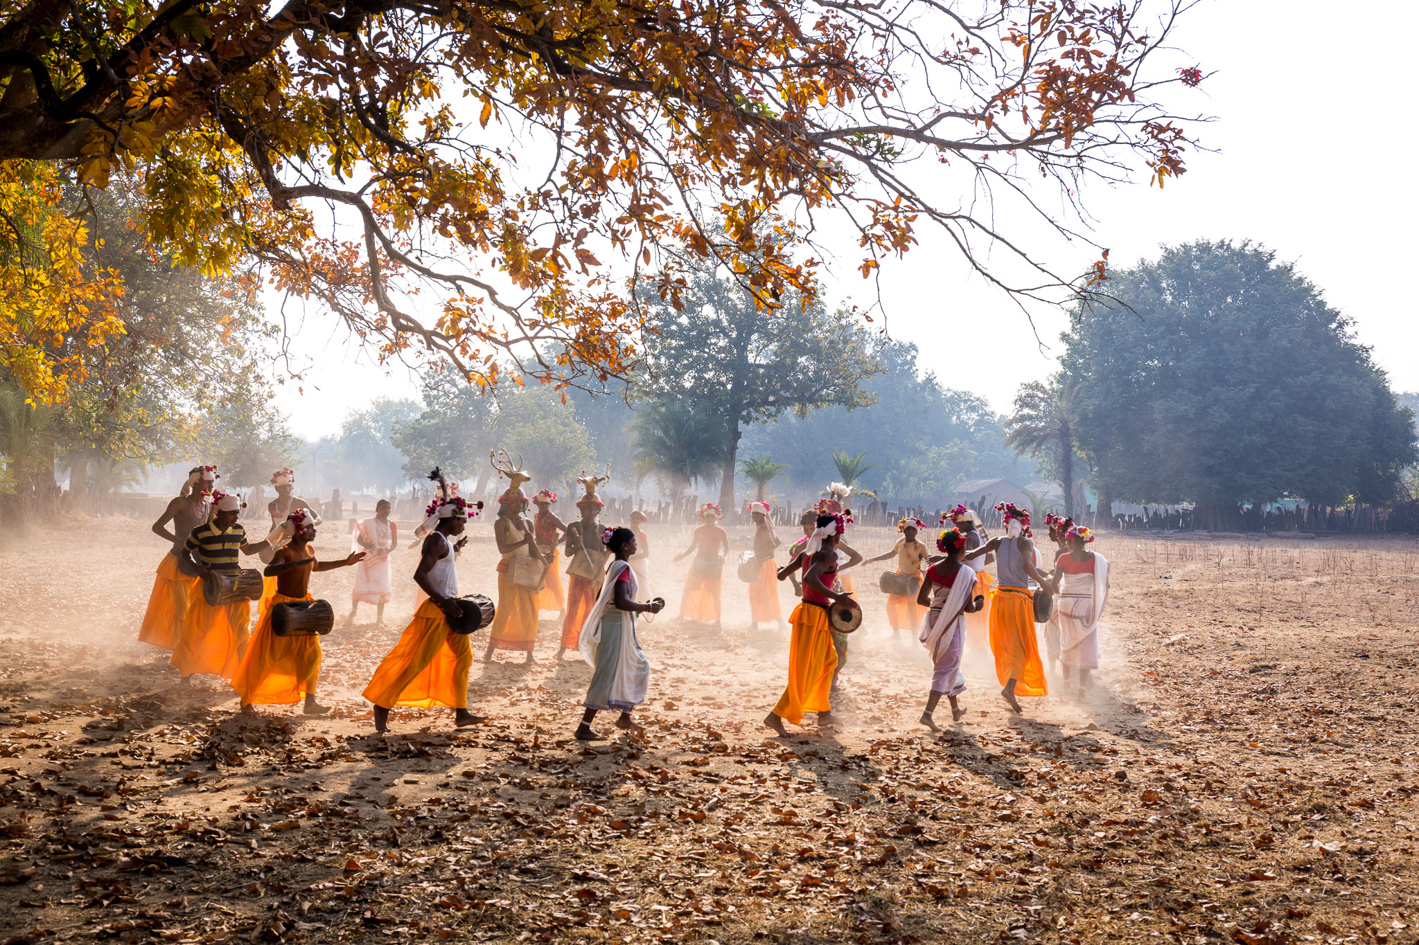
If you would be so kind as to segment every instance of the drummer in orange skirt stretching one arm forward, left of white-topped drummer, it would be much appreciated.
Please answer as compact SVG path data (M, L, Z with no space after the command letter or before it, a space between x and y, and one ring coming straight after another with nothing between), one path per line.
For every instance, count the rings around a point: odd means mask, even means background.
M231 677L231 689L241 696L241 711L253 713L254 706L289 706L305 697L305 714L321 715L331 711L315 701L315 684L321 679L321 638L277 636L271 629L271 613L277 604L309 601L311 572L333 571L358 564L363 551L350 553L339 561L316 561L311 543L315 541L315 520L305 509L292 511L291 543L275 553L265 568L265 577L275 578L275 595L261 613L245 656Z

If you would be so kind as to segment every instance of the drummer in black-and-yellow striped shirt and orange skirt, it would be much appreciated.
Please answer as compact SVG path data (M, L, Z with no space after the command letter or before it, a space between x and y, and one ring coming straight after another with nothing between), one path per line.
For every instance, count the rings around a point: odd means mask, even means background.
M180 564L204 581L219 572L238 571L240 554L257 554L271 547L267 541L251 544L247 530L237 523L241 499L224 492L211 493L213 516L187 536ZM193 673L214 673L231 679L247 649L251 601L207 604L207 595L190 595L182 638L173 649L172 664L186 684Z

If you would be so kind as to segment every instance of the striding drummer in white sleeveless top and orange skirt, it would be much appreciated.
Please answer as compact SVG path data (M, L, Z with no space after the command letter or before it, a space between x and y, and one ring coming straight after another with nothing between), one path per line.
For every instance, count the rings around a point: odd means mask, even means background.
M414 611L394 649L365 687L365 698L375 704L375 731L389 731L389 710L394 706L446 706L454 710L454 725L460 728L487 721L468 711L468 670L473 667L468 636L448 626L450 616L463 615L455 599L454 553L467 541L454 544L451 538L463 534L470 510L468 503L454 496L443 500L431 516L437 524L424 537L414 568L414 584L429 599Z

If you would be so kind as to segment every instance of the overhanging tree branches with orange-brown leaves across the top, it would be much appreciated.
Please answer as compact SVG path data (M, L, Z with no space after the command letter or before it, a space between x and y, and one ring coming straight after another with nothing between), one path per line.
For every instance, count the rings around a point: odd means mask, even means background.
M1100 292L969 194L1067 231L1034 174L1181 174L1192 1L6 0L0 162L142 171L159 247L253 258L386 356L595 384L640 354L640 281L674 302L710 258L810 298L826 210L864 276L929 222L1022 299Z

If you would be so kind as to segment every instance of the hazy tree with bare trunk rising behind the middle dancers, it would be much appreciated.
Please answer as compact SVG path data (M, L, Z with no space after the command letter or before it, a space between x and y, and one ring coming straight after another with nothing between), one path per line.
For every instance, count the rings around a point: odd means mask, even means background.
M746 424L786 411L863 407L878 374L873 346L850 312L785 296L769 305L717 271L691 269L683 306L647 305L641 398L685 401L724 429L719 506L734 509L734 473Z

